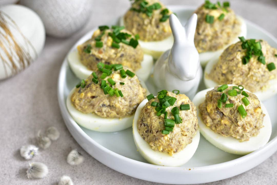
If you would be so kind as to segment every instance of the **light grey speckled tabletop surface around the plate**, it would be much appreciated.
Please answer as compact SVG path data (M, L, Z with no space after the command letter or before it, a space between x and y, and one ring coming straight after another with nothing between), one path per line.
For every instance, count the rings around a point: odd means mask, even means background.
M196 5L202 0L162 0L164 4ZM234 11L277 37L277 1L230 0ZM129 0L93 1L88 24L67 39L46 37L39 58L20 74L0 81L0 184L57 184L60 176L70 176L74 184L156 184L118 173L89 156L68 132L57 102L57 79L61 63L71 46L93 27L118 17L129 7ZM45 163L49 174L43 179L27 179L28 162L20 157L22 145L35 143L38 130L56 126L60 139L50 148L40 150L32 161ZM277 146L276 146L277 147ZM70 166L66 156L77 148L84 163ZM238 176L207 183L216 184L277 184L277 153L264 163ZM201 177L199 177L201 178Z

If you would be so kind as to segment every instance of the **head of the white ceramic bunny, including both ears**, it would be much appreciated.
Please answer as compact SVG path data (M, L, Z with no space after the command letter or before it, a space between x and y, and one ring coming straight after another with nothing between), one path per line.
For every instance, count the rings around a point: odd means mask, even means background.
M181 80L193 80L200 67L199 54L194 45L197 15L193 14L183 27L179 19L171 14L170 27L174 44L168 56L168 69Z

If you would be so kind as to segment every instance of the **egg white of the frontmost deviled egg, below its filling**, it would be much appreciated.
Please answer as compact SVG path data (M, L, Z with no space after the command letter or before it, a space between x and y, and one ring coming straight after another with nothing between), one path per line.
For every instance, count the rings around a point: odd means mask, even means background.
M192 142L187 145L182 151L175 153L172 156L167 153L153 150L150 147L149 143L143 140L143 138L140 136L137 128L137 121L139 119L140 112L147 102L148 100L145 99L140 103L135 112L135 117L133 121L133 137L139 153L151 164L157 164L161 166L181 166L185 164L189 161L189 159L191 159L198 147L200 139L199 129L196 131Z

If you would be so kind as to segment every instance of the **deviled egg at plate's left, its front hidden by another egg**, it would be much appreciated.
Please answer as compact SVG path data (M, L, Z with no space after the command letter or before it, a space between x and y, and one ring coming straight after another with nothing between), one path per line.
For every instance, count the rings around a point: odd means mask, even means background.
M153 57L143 54L137 38L122 26L99 26L91 39L78 45L77 50L68 55L68 63L80 79L96 70L98 62L122 64L134 70L143 81L153 66Z

